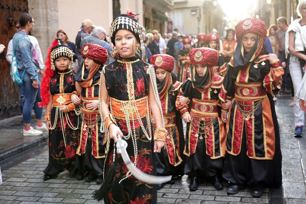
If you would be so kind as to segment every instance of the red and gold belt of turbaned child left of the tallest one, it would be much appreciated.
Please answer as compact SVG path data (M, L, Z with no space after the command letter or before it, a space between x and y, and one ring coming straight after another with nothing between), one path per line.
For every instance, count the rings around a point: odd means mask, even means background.
M217 100L201 100L192 98L190 115L200 118L218 117Z

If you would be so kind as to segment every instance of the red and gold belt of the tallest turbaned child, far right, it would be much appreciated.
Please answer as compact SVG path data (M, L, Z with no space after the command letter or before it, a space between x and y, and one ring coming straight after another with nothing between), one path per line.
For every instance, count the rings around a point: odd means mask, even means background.
M267 92L259 81L251 83L235 82L235 99L238 101L258 101L266 97Z

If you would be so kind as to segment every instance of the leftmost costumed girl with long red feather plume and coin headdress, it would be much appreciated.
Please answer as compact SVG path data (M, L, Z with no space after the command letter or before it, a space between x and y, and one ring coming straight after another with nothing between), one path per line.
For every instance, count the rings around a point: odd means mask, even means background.
M46 106L45 121L49 129L49 163L43 171L44 180L74 168L80 132L80 109L70 99L70 94L76 90L73 52L55 39L48 53L41 85L43 101L39 103L39 106Z

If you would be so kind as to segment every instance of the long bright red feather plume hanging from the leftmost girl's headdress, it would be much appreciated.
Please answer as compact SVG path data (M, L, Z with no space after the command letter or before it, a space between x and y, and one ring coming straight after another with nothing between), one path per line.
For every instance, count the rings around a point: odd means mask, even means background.
M58 45L58 39L54 39L54 41L52 42L51 46L48 49L48 56L45 62L46 70L45 70L45 73L43 74L42 83L40 85L40 96L41 96L42 102L38 103L39 107L46 107L50 100L50 94L49 94L50 79L52 76L54 76L54 73L55 73L51 69L50 53L51 53L51 49L57 45Z

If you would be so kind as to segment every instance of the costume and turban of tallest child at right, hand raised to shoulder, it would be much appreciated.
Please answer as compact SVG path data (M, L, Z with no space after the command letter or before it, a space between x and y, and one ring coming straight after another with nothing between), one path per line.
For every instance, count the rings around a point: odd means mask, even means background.
M259 19L236 25L237 49L228 64L220 100L233 99L226 125L223 177L233 184L281 184L279 128L274 103L284 73L279 60L269 62L263 46L267 28ZM241 37L258 35L251 51L244 53ZM276 98L274 98L276 99ZM273 169L273 173L272 173Z

